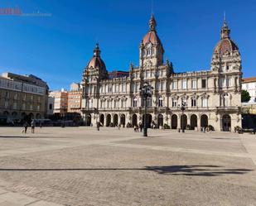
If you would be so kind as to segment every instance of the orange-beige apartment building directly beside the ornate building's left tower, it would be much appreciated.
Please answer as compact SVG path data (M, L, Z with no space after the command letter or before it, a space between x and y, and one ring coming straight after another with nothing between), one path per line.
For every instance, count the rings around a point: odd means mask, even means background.
M79 83L70 84L68 92L68 113L81 113L82 88Z

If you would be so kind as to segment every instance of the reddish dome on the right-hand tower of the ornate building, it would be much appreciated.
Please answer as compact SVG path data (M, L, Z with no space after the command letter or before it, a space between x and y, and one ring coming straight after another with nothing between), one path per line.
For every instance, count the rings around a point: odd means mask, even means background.
M239 47L236 46L234 41L226 38L218 42L218 44L215 46L214 52L220 55L225 55L226 53L232 53L234 50L239 50Z

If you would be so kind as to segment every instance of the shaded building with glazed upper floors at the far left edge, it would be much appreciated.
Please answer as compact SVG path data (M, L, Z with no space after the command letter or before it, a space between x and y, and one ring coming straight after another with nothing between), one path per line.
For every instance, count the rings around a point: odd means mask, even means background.
M48 89L46 82L34 75L2 74L0 76L1 123L46 117Z

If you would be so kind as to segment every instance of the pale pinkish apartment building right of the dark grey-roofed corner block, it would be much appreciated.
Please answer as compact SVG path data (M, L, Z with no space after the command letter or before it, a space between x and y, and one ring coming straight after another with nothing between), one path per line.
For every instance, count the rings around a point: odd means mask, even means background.
M65 89L51 91L49 96L53 99L53 113L64 114L68 109L68 92Z

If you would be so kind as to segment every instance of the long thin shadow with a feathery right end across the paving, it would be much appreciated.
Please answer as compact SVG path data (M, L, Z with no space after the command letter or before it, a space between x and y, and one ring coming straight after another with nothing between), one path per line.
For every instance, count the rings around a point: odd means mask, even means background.
M249 169L225 169L218 165L170 165L170 166L146 166L142 168L2 168L2 171L117 171L117 170L144 170L153 171L159 175L185 175L185 176L216 176L216 175L244 175Z

